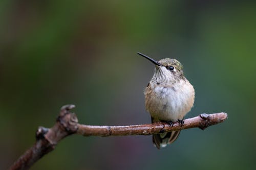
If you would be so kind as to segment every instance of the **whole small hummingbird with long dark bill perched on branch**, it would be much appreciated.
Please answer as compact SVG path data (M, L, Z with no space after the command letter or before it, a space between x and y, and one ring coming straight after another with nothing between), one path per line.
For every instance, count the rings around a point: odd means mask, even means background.
M194 105L195 90L185 78L182 64L176 59L164 58L156 61L138 53L155 64L155 72L147 84L145 94L146 111L151 115L152 123L165 122L173 126L179 122L184 125L184 116ZM173 143L179 131L163 132L153 135L153 143L157 149Z

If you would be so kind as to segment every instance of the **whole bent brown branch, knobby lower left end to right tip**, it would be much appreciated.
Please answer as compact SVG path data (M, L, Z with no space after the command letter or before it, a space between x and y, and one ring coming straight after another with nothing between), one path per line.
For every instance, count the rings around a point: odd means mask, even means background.
M78 124L77 117L70 109L74 105L66 105L60 109L55 125L50 128L39 127L36 131L36 142L9 168L29 169L38 159L54 150L58 141L71 134L83 136L125 136L125 135L152 135L188 128L205 129L227 119L226 113L200 114L199 116L184 120L181 127L178 123L169 126L167 123L154 123L132 126L90 126Z

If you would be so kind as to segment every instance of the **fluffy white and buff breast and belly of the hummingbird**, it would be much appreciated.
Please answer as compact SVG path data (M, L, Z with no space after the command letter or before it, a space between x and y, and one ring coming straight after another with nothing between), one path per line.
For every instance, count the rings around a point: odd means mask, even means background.
M176 122L190 111L194 105L195 90L185 79L172 85L150 82L145 91L146 110L155 122L171 120Z

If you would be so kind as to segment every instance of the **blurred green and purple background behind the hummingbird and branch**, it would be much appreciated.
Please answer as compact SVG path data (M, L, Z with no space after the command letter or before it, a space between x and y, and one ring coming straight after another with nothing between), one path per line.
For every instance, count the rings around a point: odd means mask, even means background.
M151 136L62 140L31 169L254 169L256 4L250 1L0 1L0 169L75 104L88 125L150 123L143 89L156 60L176 58L200 113L225 123Z

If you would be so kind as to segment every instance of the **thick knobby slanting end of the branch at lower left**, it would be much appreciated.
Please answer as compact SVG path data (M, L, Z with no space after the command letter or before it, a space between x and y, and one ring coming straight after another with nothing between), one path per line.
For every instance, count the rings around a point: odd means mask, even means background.
M42 156L54 150L58 141L77 131L78 120L69 110L74 105L66 105L60 109L55 125L50 128L39 127L36 131L36 142L9 169L29 169Z

